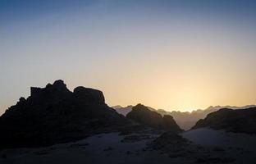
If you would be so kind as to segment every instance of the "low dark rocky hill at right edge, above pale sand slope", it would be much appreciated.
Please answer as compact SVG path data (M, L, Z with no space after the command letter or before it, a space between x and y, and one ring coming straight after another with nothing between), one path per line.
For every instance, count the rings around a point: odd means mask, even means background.
M256 134L256 107L248 109L220 109L199 120L193 129L208 127L235 133Z

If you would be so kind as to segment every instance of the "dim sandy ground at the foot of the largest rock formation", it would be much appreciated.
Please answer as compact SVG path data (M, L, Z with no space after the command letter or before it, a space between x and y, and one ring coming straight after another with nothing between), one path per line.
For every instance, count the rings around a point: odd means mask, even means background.
M149 138L155 138L153 134ZM2 150L7 158L1 164L24 163L158 163L169 160L164 154L145 151L152 139L134 142L117 133L98 134L70 144L58 144L47 148L17 148Z

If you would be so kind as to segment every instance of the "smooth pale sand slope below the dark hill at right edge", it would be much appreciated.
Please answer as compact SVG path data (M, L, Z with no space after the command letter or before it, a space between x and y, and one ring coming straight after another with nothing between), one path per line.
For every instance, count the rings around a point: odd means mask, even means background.
M202 128L186 131L182 136L194 144L222 148L231 154L237 163L256 163L256 135Z

